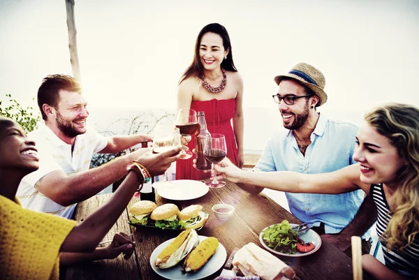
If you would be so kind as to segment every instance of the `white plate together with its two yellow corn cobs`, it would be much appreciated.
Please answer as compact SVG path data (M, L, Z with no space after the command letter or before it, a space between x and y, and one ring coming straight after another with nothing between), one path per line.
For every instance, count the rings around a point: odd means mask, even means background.
M215 237L198 235L195 230L184 230L154 249L150 265L156 274L166 279L196 280L214 274L223 266L226 258L226 249Z

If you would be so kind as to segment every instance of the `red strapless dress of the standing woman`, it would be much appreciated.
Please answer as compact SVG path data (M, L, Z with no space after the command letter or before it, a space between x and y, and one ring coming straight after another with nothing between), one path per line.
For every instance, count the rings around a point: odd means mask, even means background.
M231 119L235 115L235 99L212 99L210 101L192 101L191 109L196 112L205 113L205 121L207 121L207 129L210 133L221 133L226 136L227 157L235 165L238 165L237 159L237 142L235 139ZM189 149L195 147L195 137L188 145ZM176 161L176 179L207 179L210 178L211 172L203 172L192 166L191 159L179 159Z

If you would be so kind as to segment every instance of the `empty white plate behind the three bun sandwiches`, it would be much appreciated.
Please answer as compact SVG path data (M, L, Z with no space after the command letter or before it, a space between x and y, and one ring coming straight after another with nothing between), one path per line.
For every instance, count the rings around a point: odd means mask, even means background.
M171 200L190 200L205 196L210 188L195 180L175 180L153 184L159 196Z

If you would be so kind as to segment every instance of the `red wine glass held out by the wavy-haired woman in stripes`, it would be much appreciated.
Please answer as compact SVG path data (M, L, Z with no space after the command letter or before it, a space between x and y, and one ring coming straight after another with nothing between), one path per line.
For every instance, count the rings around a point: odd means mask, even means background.
M210 141L205 142L204 156L205 159L214 164L222 161L227 155L226 137L223 134L212 133ZM226 186L226 182L219 181L216 179L216 170L214 168L214 177L212 182L208 182L207 186L210 188L221 188Z

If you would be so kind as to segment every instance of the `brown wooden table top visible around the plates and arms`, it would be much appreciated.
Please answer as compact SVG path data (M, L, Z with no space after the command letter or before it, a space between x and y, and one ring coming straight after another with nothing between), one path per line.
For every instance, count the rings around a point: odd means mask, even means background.
M203 211L210 214L205 226L198 231L199 235L214 236L225 246L227 256L235 247L241 248L249 242L260 245L259 233L266 226L280 223L284 219L290 223L300 223L291 213L278 205L274 200L263 193L251 195L240 189L237 184L226 182L221 189L210 189L203 197L194 200L171 201L156 195L157 205L172 202L179 209L192 204L203 205ZM83 221L110 198L110 194L94 196L89 200L80 202L75 212L75 219ZM131 203L138 200L133 198ZM235 206L233 216L227 221L221 221L212 213L212 206L217 203L228 203ZM93 263L73 265L66 267L61 279L163 279L149 263L149 258L159 244L176 237L179 232L175 230L160 230L130 226L128 224L128 210L118 219L108 235L103 240L111 240L115 233L132 233L136 242L135 253L129 260L122 256L114 260L98 260ZM302 280L316 279L353 279L352 260L335 246L322 240L321 248L309 256L300 258L279 257L293 267L297 276ZM219 276L221 269L206 279ZM364 279L369 275L364 273Z

